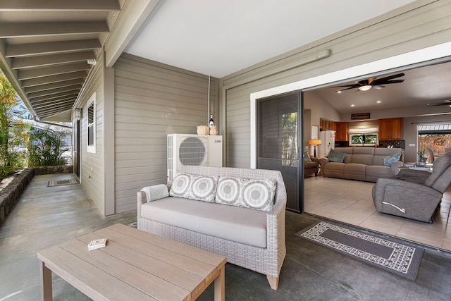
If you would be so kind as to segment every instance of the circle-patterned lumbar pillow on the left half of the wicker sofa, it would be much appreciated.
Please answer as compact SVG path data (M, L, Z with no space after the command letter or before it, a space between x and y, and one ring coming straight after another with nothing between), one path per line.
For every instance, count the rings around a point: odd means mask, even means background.
M184 197L197 201L214 202L218 176L197 176L189 173L178 173L171 185L171 197Z

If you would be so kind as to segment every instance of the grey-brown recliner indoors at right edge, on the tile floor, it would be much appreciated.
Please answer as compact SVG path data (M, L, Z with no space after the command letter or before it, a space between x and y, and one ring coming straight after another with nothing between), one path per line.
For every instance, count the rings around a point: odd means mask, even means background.
M380 178L373 186L376 210L418 221L433 222L433 214L451 183L451 153L435 159L433 172L406 170Z

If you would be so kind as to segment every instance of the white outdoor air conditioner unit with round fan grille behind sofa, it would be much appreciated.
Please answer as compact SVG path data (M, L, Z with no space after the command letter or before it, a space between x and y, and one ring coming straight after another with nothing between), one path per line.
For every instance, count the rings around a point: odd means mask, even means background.
M182 165L223 166L223 136L168 135L168 182Z

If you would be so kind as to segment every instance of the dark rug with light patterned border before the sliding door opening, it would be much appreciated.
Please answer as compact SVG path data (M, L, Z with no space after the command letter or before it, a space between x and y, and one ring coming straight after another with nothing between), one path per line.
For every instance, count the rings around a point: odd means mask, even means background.
M326 221L314 223L295 235L413 281L424 253L424 249L416 245Z

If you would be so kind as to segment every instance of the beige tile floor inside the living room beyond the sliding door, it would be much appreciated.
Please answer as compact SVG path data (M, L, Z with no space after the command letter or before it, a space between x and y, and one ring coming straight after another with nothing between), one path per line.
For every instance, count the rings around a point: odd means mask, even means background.
M424 223L377 212L371 197L374 183L321 176L305 178L304 183L307 214L451 251L451 186L443 195L434 223Z

